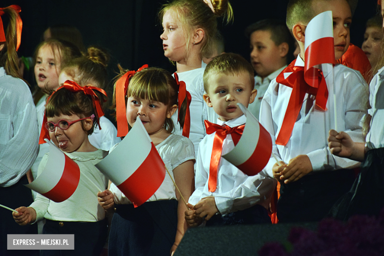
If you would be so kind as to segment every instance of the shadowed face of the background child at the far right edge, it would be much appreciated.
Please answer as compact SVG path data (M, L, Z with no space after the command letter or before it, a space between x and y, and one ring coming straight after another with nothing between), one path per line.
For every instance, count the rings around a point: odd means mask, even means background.
M375 66L382 59L383 30L379 27L368 27L364 33L361 49L368 57L371 66Z

